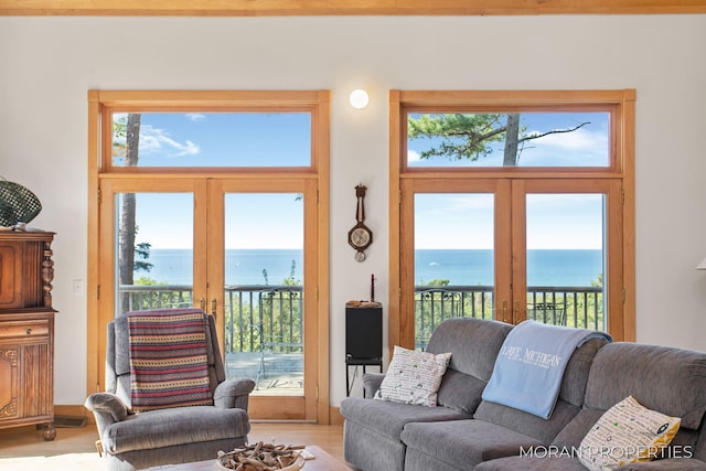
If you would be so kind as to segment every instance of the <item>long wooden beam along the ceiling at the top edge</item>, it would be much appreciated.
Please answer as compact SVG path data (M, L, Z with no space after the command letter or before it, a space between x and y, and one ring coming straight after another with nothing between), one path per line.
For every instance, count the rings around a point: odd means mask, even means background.
M706 0L0 0L0 15L285 17L706 13Z

